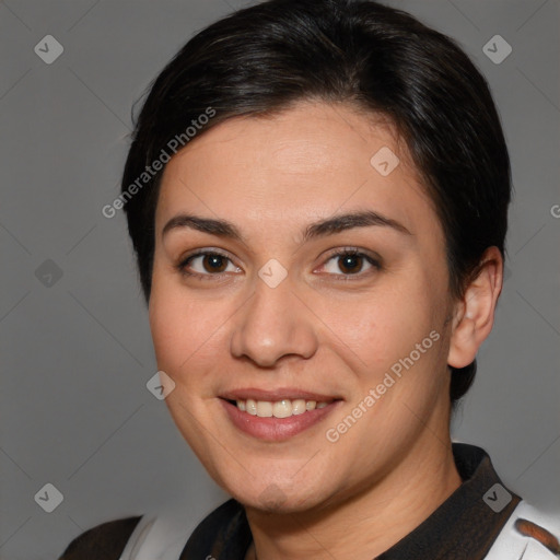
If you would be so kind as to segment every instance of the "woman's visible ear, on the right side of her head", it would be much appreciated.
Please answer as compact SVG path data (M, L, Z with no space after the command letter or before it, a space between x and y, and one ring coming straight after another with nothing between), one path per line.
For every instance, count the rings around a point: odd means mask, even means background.
M480 259L476 278L455 304L448 365L466 368L475 360L480 345L492 330L502 280L502 254L498 247L488 247Z

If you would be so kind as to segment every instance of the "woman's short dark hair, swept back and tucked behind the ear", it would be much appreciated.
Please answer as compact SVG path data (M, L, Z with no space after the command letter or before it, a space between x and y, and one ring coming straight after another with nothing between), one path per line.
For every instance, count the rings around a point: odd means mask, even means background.
M453 39L406 12L362 0L262 2L195 35L148 91L121 185L147 301L163 170L144 175L144 185L138 178L167 155L172 139L186 145L195 124L199 136L229 118L276 114L302 100L388 117L441 221L455 296L486 248L504 254L510 159L489 86ZM212 118L201 119L209 109ZM451 370L455 402L470 387L476 361Z

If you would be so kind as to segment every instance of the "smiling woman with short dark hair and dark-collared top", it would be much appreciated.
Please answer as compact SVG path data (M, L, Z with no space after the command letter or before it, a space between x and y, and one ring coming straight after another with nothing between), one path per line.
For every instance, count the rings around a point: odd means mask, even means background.
M410 15L272 0L195 36L119 203L160 390L232 500L173 542L130 517L61 558L555 558L553 524L450 438L510 195L485 79Z

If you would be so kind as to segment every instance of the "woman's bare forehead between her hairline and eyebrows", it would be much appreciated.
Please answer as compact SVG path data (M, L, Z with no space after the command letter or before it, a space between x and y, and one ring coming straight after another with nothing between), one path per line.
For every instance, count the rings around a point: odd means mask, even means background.
M156 229L178 211L280 226L362 207L412 229L435 217L406 144L386 120L345 105L301 103L272 116L228 119L191 140L166 165Z

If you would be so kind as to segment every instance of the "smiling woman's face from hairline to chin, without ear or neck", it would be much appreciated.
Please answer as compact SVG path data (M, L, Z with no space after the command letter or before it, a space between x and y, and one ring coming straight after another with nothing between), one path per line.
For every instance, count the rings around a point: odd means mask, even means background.
M165 168L149 312L166 404L248 506L334 504L448 440L445 241L408 162L390 126L306 102L226 120Z

